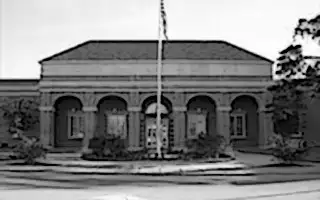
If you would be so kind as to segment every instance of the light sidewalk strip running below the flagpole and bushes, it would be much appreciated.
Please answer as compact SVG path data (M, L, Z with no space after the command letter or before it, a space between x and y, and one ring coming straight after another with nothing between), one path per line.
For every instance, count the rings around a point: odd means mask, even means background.
M236 172L236 173L251 173L244 164L237 161L228 161L220 163L153 163L149 162L101 162L97 165L88 161L73 162L73 165L68 161L50 161L45 164L55 164L56 166L16 166L4 165L0 166L0 171L6 172L62 172L73 174L145 174L145 175L166 175L166 174L182 174L187 172L199 172L208 170L219 170Z

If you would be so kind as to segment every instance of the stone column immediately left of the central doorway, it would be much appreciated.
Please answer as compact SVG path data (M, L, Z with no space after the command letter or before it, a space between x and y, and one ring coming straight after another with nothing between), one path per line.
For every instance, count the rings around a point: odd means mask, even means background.
M128 149L136 151L140 149L140 107L129 107Z

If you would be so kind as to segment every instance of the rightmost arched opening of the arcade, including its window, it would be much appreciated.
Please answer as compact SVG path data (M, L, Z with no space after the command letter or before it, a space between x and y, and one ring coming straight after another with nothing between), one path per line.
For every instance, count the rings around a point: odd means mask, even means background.
M237 147L255 146L259 142L259 113L255 98L242 95L231 103L230 139Z

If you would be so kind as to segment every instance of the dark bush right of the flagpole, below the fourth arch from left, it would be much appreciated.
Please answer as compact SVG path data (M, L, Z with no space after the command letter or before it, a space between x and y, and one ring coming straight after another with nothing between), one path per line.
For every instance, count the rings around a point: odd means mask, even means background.
M222 135L200 134L197 139L187 140L187 152L182 156L184 159L217 158L225 154L230 144Z

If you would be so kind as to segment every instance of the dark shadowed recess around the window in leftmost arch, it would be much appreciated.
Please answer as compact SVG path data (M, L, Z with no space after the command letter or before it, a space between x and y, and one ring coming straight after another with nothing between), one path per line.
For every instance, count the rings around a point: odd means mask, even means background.
M69 138L70 111L82 111L83 104L75 96L63 95L56 99L54 108L54 143L57 147L81 147L81 139Z

